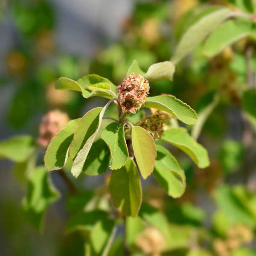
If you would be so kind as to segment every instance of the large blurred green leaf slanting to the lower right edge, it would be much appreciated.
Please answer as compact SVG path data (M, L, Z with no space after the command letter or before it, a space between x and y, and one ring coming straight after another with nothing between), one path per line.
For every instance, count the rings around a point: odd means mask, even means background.
M218 207L228 216L230 223L241 222L250 227L256 226L256 220L236 198L227 185L218 188L214 195Z

